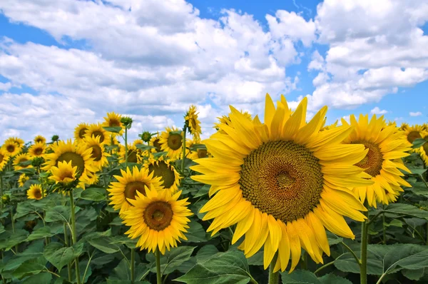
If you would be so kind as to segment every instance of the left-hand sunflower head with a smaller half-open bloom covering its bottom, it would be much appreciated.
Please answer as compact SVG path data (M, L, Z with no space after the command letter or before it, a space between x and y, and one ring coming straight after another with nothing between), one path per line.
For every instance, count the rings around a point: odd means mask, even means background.
M42 170L50 171L53 166L58 167L61 161L69 162L71 165L77 166L79 176L79 186L85 189L85 184L93 184L96 182L96 171L98 168L93 166L92 149L86 148L84 145L71 141L59 141L58 145L52 146L54 153L46 154L46 163Z

